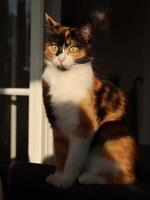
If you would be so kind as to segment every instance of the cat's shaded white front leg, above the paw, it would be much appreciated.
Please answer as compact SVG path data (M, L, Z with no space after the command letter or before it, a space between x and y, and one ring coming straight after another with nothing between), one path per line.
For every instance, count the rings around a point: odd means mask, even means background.
M78 178L87 159L91 140L91 135L87 138L71 137L61 187L71 187Z

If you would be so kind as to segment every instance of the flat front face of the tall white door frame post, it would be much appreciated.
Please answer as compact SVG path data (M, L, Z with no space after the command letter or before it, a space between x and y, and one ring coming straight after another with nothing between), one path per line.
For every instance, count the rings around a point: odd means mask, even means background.
M43 65L43 0L31 4L29 144L30 162L42 162L43 102L41 70Z

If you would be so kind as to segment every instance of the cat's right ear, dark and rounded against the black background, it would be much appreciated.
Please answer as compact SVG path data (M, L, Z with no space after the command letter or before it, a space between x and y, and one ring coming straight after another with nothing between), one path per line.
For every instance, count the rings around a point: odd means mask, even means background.
M90 23L86 23L81 26L77 31L77 35L88 43L92 39L92 25Z

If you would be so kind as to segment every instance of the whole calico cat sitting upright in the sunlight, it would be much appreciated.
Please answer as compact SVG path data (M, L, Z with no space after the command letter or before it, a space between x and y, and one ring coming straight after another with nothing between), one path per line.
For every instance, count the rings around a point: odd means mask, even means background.
M56 172L67 188L135 181L136 142L123 91L92 68L92 25L69 28L46 14L43 100L53 129Z

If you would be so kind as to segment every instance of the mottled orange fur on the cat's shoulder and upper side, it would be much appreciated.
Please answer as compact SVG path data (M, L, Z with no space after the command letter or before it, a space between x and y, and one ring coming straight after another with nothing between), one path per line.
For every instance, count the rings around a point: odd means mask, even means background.
M105 93L102 96L102 102L99 104L101 108L104 108L104 110L106 110L106 115L104 119L98 121L96 113L97 108L95 107L96 96L94 94L94 91L101 90L102 85L102 82L94 77L93 86L91 89L89 89L89 95L87 96L87 99L82 99L80 102L80 124L77 128L78 131L75 131L76 135L78 135L79 137L86 137L91 132L91 130L96 131L102 124L110 121L119 120L125 114L126 99L123 92L121 90L118 90L117 93L113 95L113 100L115 100L115 98L117 98L118 96L120 98L120 104L118 108L114 110L111 103L106 100L107 95L110 92L110 88L106 87Z

